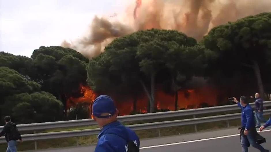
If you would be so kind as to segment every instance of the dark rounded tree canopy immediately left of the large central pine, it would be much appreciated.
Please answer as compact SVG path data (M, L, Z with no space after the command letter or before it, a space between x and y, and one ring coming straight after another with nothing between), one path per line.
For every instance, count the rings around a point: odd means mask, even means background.
M31 56L42 90L65 103L66 97L80 96L80 84L86 84L89 61L79 52L59 46L40 47Z

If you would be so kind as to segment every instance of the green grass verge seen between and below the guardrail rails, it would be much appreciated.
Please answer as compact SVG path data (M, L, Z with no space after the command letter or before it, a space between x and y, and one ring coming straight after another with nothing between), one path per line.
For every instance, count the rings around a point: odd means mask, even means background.
M202 115L196 116L196 117L200 118L200 117L207 117L207 116L214 116L214 115L224 115L224 114L229 114L229 113L234 113L234 112L212 113L212 115L202 114ZM139 123L180 120L180 119L188 119L188 118L192 118L192 117L185 116L185 117L168 118L168 119L143 120L143 121L137 121L137 122L125 122L123 124L130 125L130 124L139 124ZM267 115L267 116L265 116L265 118L268 119L269 116ZM241 120L240 119L229 120L229 125L231 127L233 127L233 126L238 127L241 125ZM227 126L226 121L202 123L202 124L196 125L197 131L226 128L226 126ZM97 125L93 125L93 126L74 127L74 128L57 128L57 129L41 130L40 132L82 130L82 129L97 128L97 127L98 127ZM138 130L135 132L140 137L140 139L158 137L159 132L160 132L161 136L172 136L172 135L187 134L187 133L195 132L195 125L176 126L176 127L167 127L167 128L159 128L159 129L149 129L149 130ZM96 144L97 143L97 135L41 140L41 141L37 141L37 147L38 147L38 149L48 149L48 148L76 146L77 141L78 141L78 145ZM6 148L7 148L6 144L0 144L0 151L5 151ZM26 151L26 150L33 150L33 149L35 149L35 144L33 141L32 142L24 142L24 143L18 145L18 151Z

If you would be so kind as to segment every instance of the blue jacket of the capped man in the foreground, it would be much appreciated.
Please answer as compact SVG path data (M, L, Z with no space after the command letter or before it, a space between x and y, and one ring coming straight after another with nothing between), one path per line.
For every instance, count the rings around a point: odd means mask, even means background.
M95 152L126 152L127 141L133 141L137 147L140 144L135 132L118 121L104 126L97 138Z

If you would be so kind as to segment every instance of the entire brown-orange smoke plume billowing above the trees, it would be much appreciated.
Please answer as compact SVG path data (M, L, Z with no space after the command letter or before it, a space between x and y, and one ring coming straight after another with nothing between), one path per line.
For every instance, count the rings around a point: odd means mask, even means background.
M133 5L133 6L132 6ZM270 0L135 0L123 22L95 17L86 36L61 46L91 58L114 38L151 28L173 29L200 41L218 25L271 11ZM130 21L133 22L130 22Z

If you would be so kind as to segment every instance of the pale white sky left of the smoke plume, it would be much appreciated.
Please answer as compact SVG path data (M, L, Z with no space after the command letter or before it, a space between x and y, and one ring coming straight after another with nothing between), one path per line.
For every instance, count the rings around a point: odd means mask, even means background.
M131 0L0 0L0 51L30 57L40 46L80 37L95 15L111 16Z

